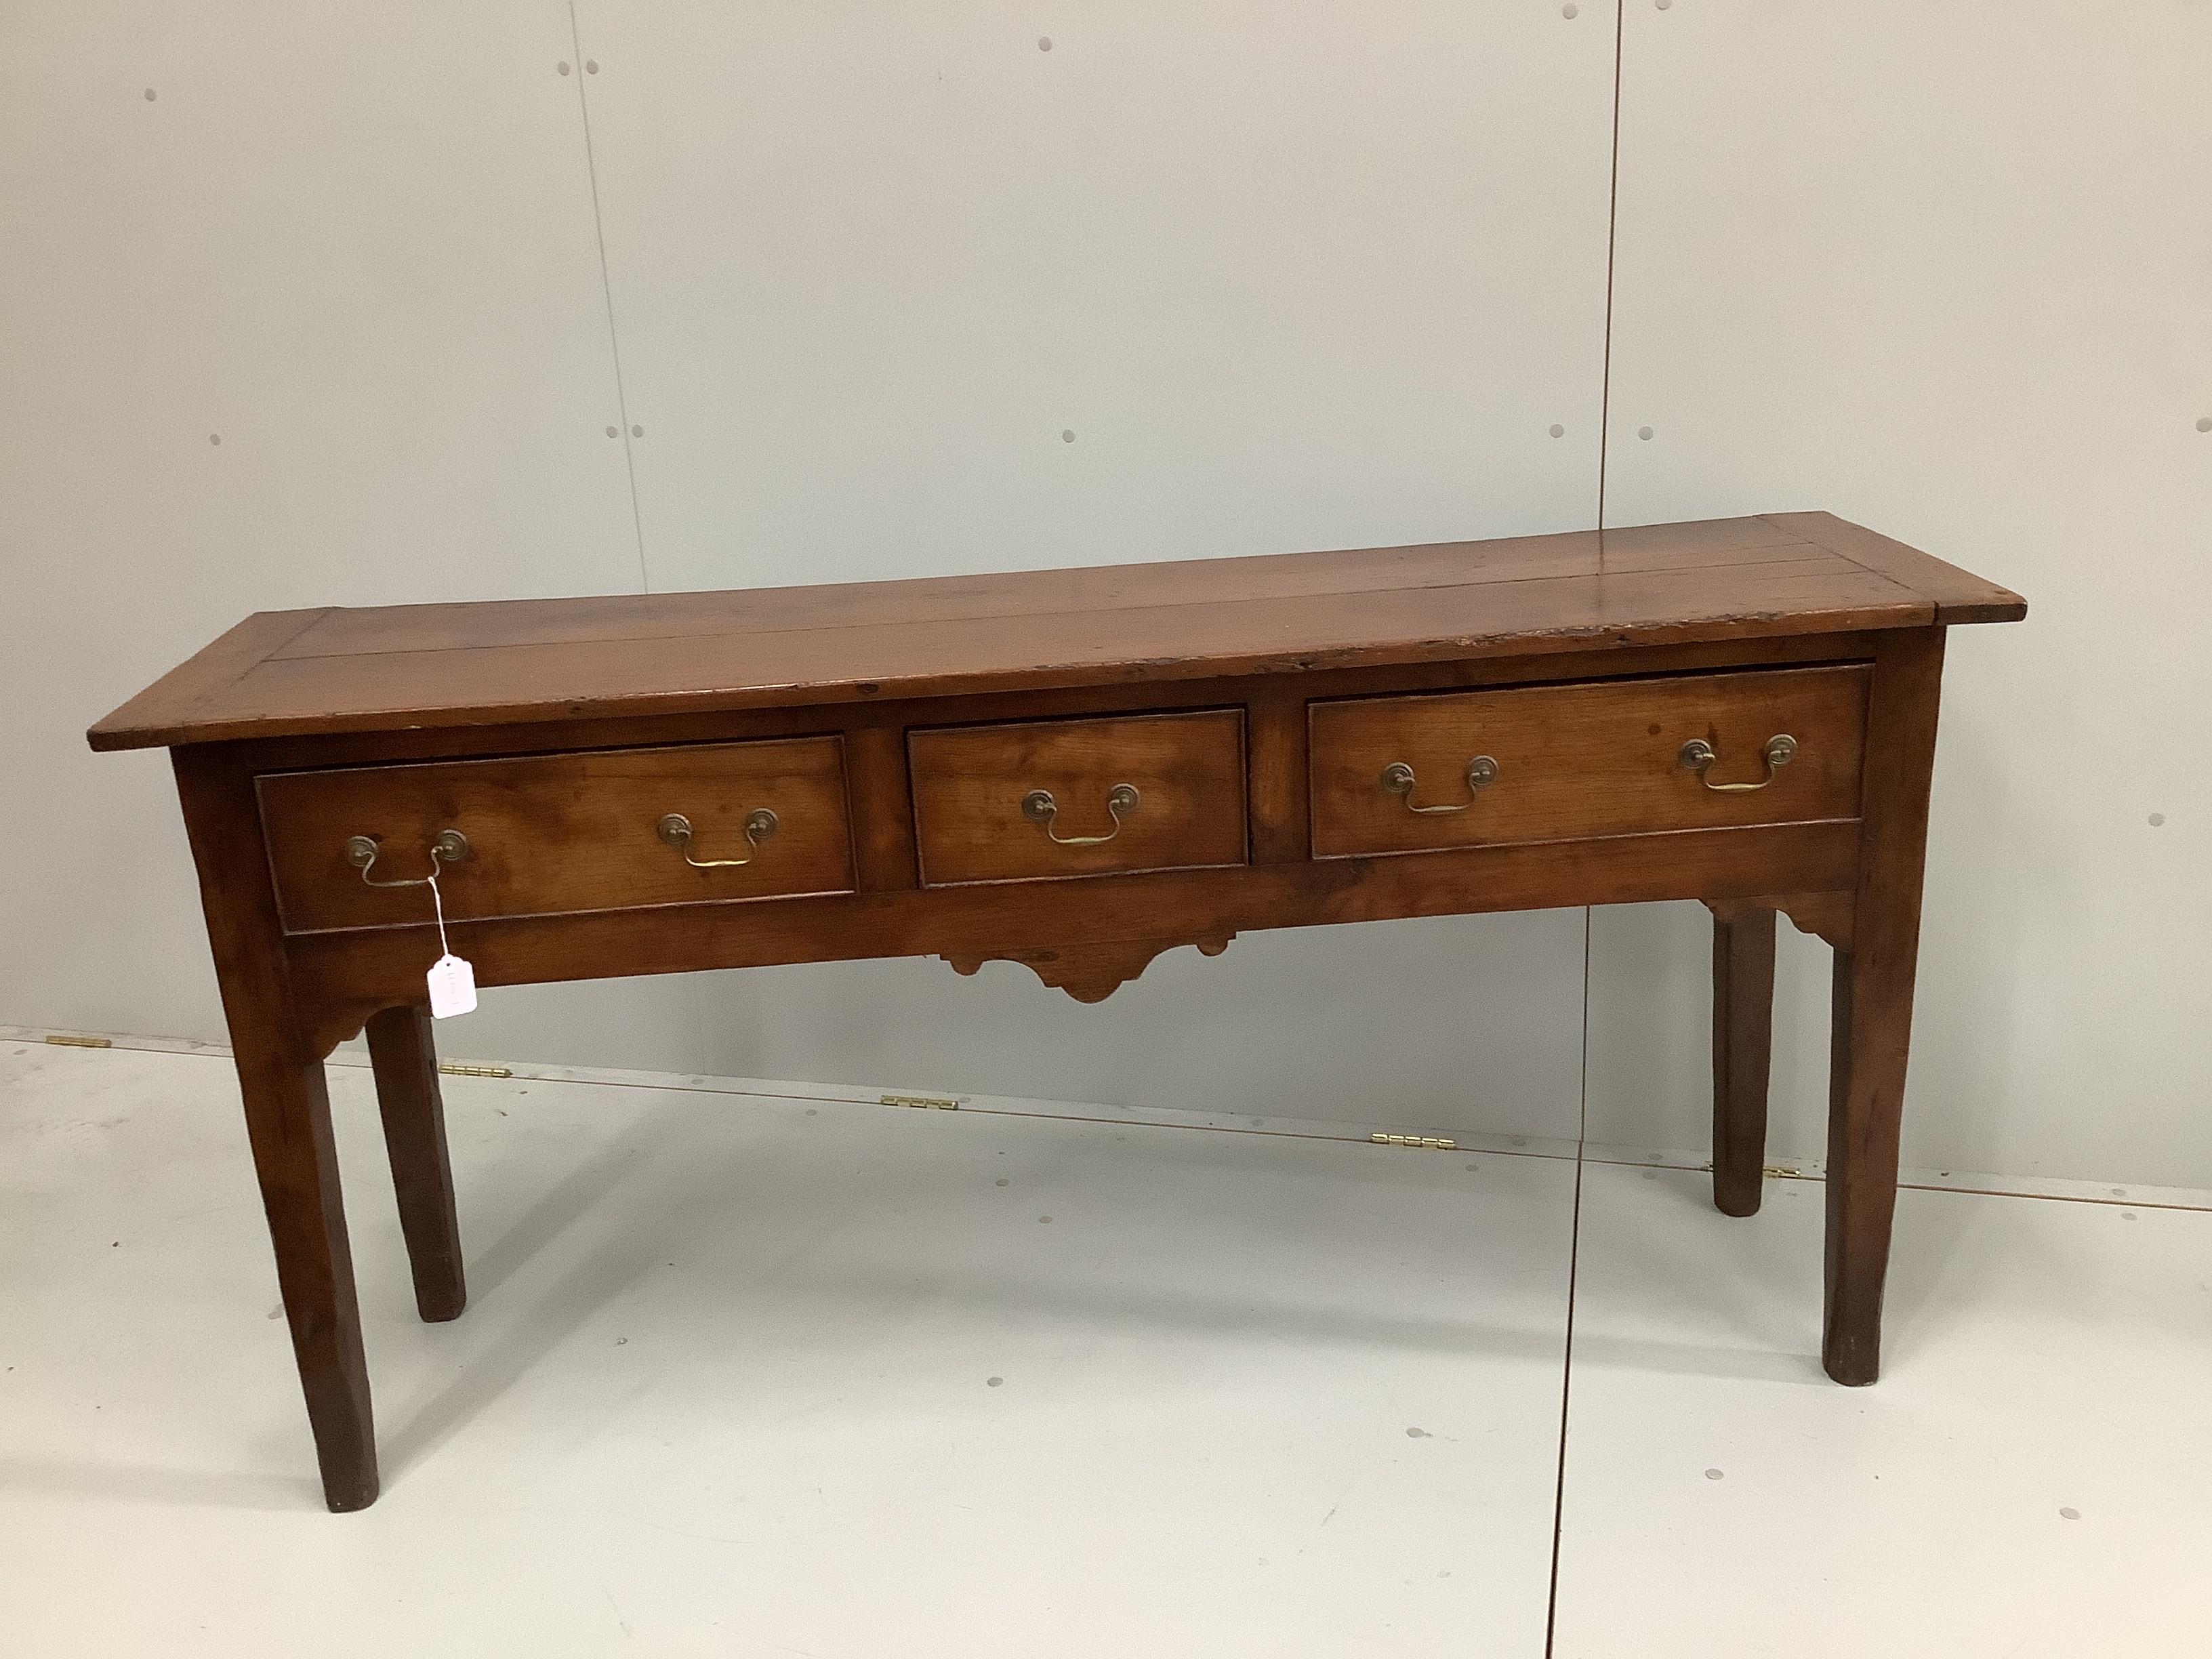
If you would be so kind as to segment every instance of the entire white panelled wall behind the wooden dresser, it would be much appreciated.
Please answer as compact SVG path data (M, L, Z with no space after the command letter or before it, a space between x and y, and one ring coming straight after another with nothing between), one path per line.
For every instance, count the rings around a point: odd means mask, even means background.
M1613 29L584 0L564 77L553 0L9 7L0 1018L217 1031L166 768L80 732L250 608L1588 522ZM2035 606L1953 637L1913 1164L2212 1183L2208 62L2148 0L1626 15L1608 522L1832 507ZM1593 1135L1701 1144L1703 914L1595 938ZM1579 995L1540 916L1102 1009L936 962L498 991L447 1046L1564 1133ZM1816 1152L1787 929L1778 1026Z

